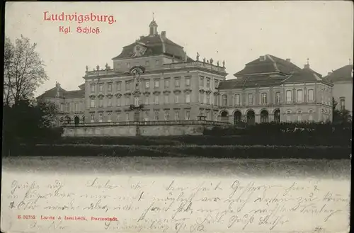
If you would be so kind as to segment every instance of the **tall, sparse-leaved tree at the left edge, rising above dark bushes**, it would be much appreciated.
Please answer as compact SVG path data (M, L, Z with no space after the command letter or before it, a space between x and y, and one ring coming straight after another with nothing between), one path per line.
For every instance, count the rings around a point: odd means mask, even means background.
M5 38L4 101L5 106L33 98L35 89L48 79L45 64L28 38L16 39L15 45Z

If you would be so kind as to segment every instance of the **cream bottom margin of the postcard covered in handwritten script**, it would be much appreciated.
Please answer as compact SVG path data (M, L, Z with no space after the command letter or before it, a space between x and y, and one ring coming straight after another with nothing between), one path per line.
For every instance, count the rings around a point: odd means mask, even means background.
M350 181L7 174L4 232L345 232Z

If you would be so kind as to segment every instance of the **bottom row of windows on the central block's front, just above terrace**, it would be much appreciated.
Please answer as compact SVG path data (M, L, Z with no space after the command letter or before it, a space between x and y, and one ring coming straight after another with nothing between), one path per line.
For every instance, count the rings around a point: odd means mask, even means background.
M185 110L185 115L184 115L184 119L185 120L190 120L190 110ZM160 111L159 110L154 110L154 120L161 120L160 118ZM169 110L164 110L164 120L181 120L180 117L180 111L179 110L174 110L174 115L173 118L170 117L170 111ZM120 121L130 121L133 120L132 118L130 118L130 114L129 113L125 113L125 118L122 118L122 114L117 113L116 114L116 118L115 120L117 122ZM149 111L145 111L144 112L144 120L148 121L148 120L152 120L149 118ZM107 122L112 122L113 118L112 118L112 113L108 113L107 114ZM91 113L91 123L95 122L95 115L93 113ZM99 113L98 114L98 122L103 122L103 113Z

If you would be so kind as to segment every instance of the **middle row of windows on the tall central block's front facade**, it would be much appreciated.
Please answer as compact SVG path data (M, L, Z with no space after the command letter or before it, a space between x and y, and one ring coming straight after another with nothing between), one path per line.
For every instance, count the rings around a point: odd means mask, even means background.
M173 99L173 103L181 103L181 101L184 101L184 103L190 103L190 94L187 93L184 96L184 100L181 100L181 96L179 95L175 95L174 99ZM132 98L130 98L130 96L125 97L125 106L129 106L130 104L134 104L135 106L138 106L139 104L142 104L142 100L139 97L134 97L133 98L134 103L132 103ZM169 104L171 103L170 101L170 96L168 95L164 95L164 96L154 96L153 97L153 104L160 104L162 103L162 100L164 101L163 103L165 104ZM150 98L149 97L144 97L144 105L149 105L151 104L150 102ZM107 99L107 106L108 107L112 107L113 106L113 98L108 98ZM122 98L118 97L115 98L115 106L122 106ZM91 108L96 108L96 99L91 99L91 103L90 103L90 107ZM98 99L98 107L103 107L103 98Z

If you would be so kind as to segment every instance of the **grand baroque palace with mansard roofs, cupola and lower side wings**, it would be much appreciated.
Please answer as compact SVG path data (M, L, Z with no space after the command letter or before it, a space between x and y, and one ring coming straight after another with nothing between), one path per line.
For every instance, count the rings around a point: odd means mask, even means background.
M331 120L333 84L308 62L301 69L290 59L264 55L226 80L224 61L188 57L157 27L153 20L148 35L123 47L112 68L86 66L79 90L57 84L38 99L57 105L59 125Z

